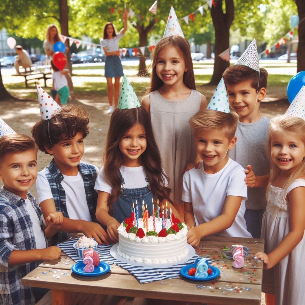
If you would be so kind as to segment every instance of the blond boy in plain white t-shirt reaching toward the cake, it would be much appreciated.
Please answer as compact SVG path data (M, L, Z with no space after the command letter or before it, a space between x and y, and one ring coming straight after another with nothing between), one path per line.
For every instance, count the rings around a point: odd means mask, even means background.
M198 246L207 235L252 238L243 217L246 174L227 156L237 140L237 120L232 113L204 109L189 121L202 158L200 169L193 168L183 176L184 219L191 246Z

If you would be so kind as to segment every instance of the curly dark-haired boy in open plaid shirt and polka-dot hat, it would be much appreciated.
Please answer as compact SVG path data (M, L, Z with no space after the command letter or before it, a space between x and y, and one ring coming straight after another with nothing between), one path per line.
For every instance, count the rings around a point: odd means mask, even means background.
M38 97L41 95L45 99L42 88L38 87ZM56 104L54 101L43 102L52 107ZM54 236L52 244L66 240L67 233L77 232L95 238L99 244L102 241L108 243L107 233L95 218L97 194L94 184L98 169L81 162L84 138L89 133L88 114L75 105L65 109L50 106L48 110L43 108L43 103L40 105L42 120L31 132L38 148L53 155L53 159L38 173L38 202L44 216L54 211L60 211L64 216L60 232Z

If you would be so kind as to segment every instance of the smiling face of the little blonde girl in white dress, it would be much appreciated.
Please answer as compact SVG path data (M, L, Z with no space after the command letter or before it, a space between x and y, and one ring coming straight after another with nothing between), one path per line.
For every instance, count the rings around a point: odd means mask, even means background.
M276 131L271 138L271 160L281 171L291 174L305 156L304 143L288 132Z

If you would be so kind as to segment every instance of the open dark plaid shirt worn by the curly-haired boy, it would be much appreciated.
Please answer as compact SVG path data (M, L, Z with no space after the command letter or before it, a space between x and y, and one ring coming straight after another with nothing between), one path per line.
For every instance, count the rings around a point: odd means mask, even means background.
M64 217L69 218L67 206L66 206L66 192L61 185L63 181L63 174L57 168L54 159L46 167L48 171L45 173L48 179L53 199L56 206L57 212L62 212ZM87 205L89 213L93 222L97 222L95 217L96 203L97 203L97 192L94 190L95 179L97 176L97 169L94 165L89 163L80 162L78 165L81 176L84 180L84 187L87 199ZM68 233L57 232L50 242L51 246L57 245L64 240L68 239Z

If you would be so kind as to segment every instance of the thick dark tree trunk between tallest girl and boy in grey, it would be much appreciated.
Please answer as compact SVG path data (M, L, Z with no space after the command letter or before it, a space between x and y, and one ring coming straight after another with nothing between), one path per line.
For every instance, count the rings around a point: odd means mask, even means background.
M221 59L218 55L229 48L230 27L234 19L233 0L225 0L226 13L222 11L222 0L217 1L217 5L212 6L211 16L215 29L215 59L214 71L210 84L218 84L221 80L222 73L230 62Z

